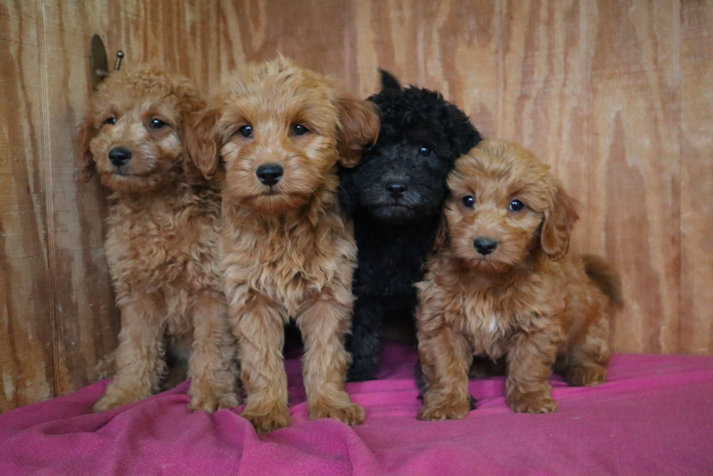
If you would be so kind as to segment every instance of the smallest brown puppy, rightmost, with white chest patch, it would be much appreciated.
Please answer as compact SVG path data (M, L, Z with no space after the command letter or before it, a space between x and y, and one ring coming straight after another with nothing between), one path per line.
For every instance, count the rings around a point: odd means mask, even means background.
M555 363L569 385L604 382L620 282L600 258L566 255L578 216L560 181L524 148L485 140L448 187L443 242L417 285L419 419L466 416L474 353L506 359L515 412L557 409Z

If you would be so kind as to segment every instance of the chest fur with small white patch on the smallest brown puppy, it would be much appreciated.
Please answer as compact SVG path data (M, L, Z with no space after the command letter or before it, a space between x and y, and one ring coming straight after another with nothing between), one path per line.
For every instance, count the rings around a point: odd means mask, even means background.
M449 295L443 318L466 333L474 353L500 358L516 333L545 328L556 332L553 317L563 312L566 295L564 286L553 284L536 274L503 281L461 274L461 280L443 282L443 292ZM548 299L533 300L533 295Z

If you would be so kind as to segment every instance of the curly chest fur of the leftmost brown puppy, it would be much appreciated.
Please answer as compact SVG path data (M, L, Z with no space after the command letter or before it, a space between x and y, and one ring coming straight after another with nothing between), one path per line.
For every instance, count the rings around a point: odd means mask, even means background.
M168 302L196 290L220 290L220 198L180 186L175 193L117 198L108 218L106 257L119 299L143 293Z

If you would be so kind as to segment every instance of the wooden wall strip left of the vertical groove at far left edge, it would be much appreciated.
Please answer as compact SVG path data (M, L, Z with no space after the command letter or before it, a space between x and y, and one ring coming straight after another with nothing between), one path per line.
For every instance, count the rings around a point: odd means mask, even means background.
M37 13L0 3L0 412L53 395Z

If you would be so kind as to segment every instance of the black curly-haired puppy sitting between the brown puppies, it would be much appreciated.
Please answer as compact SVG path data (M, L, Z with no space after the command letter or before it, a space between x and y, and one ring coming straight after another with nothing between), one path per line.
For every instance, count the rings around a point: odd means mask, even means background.
M440 93L409 86L381 71L383 89L369 97L381 110L379 138L356 168L342 169L340 201L354 217L359 267L349 380L369 380L379 367L382 320L413 313L414 283L434 244L453 162L481 135Z

